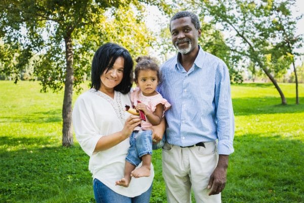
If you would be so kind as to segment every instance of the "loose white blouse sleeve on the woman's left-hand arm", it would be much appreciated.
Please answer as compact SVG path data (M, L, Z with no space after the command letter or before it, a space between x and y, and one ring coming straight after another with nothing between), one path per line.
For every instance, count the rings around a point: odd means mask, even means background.
M85 98L79 97L73 108L72 121L76 139L81 148L92 156L96 144L102 136L98 134L98 129L94 126L92 108L88 106Z

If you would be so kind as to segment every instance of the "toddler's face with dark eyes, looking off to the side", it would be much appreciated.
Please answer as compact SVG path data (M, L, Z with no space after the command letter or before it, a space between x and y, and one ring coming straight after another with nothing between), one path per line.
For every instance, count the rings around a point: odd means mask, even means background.
M136 84L142 91L143 95L155 95L155 90L158 85L157 72L152 70L139 71Z

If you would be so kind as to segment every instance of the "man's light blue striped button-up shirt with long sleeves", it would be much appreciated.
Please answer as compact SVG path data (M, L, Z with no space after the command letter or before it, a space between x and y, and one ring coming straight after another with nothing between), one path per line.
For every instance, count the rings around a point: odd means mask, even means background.
M158 91L172 105L166 111L166 139L182 147L218 140L218 153L231 154L234 114L229 70L222 60L199 48L188 72L177 55L161 67Z

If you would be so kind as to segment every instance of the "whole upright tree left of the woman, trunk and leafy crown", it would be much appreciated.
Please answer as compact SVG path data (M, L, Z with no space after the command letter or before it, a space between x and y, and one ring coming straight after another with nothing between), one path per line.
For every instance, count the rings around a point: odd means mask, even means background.
M111 40L122 45L128 44L126 48L129 48L133 55L144 54L142 47L153 40L146 33L145 38L140 39L136 39L137 36L130 33L134 27L142 29L141 35L147 31L136 15L132 17L131 14L127 15L129 18L114 15L116 23L129 22L129 30L123 30L125 36L115 30L118 27L113 26L109 30L104 26L110 25L106 22L111 13L122 12L124 9L131 11L132 8L140 10L143 7L141 2L148 1L4 0L0 3L2 10L0 38L20 52L14 66L15 72L22 71L29 59L34 54L39 54L40 59L35 61L34 73L42 77L42 91L47 91L48 88L58 91L64 87L63 146L73 145L71 126L73 86L79 88L83 82L81 78L89 74L91 56L97 47ZM169 8L163 1L154 2L154 4L162 5L164 9ZM108 16L106 12L109 13ZM118 18L120 19L117 20ZM133 23L133 29L130 29L130 23ZM111 38L105 36L111 36ZM11 70L6 70L5 73L11 74ZM18 80L19 75L16 74L15 81Z

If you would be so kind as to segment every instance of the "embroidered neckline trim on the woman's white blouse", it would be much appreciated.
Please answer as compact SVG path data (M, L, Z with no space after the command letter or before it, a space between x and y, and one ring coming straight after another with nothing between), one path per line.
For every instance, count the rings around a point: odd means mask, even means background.
M114 98L111 98L110 96L108 96L107 94L94 89L90 89L89 92L92 92L94 94L97 94L98 96L104 98L114 109L115 114L118 118L124 119L124 108L122 105L122 93L119 91L115 91L114 92Z

